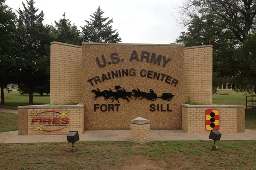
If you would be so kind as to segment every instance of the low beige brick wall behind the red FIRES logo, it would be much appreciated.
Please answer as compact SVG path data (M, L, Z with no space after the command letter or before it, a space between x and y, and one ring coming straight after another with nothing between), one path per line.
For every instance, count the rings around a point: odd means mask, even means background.
M22 109L24 110L25 107L27 107L26 109L28 109L28 121L24 122L27 124L27 133L26 133L27 135L61 135L61 134L65 135L70 130L78 131L79 134L82 134L84 132L84 105L79 105L77 108L75 108L76 106L48 106L49 108L46 108L45 106L22 106L22 107L23 108L19 108L19 110L22 110ZM63 116L60 116L61 114L53 113L53 112L41 113L44 111L67 112L66 113L67 116L63 117ZM38 114L38 113L41 113L41 114ZM49 122L49 123L46 122L44 124L43 122L40 123L40 120L37 120L38 122L34 122L34 124L32 124L33 118L40 118L40 119L51 118L52 120L54 118L61 118L61 119L69 118L69 123L67 123L66 126L55 126L54 124L52 124L52 122ZM19 124L22 124L22 122L19 122ZM37 127L40 127L41 129L36 129ZM61 129L61 130L52 131L52 132L45 131L45 130L57 130L57 129Z

